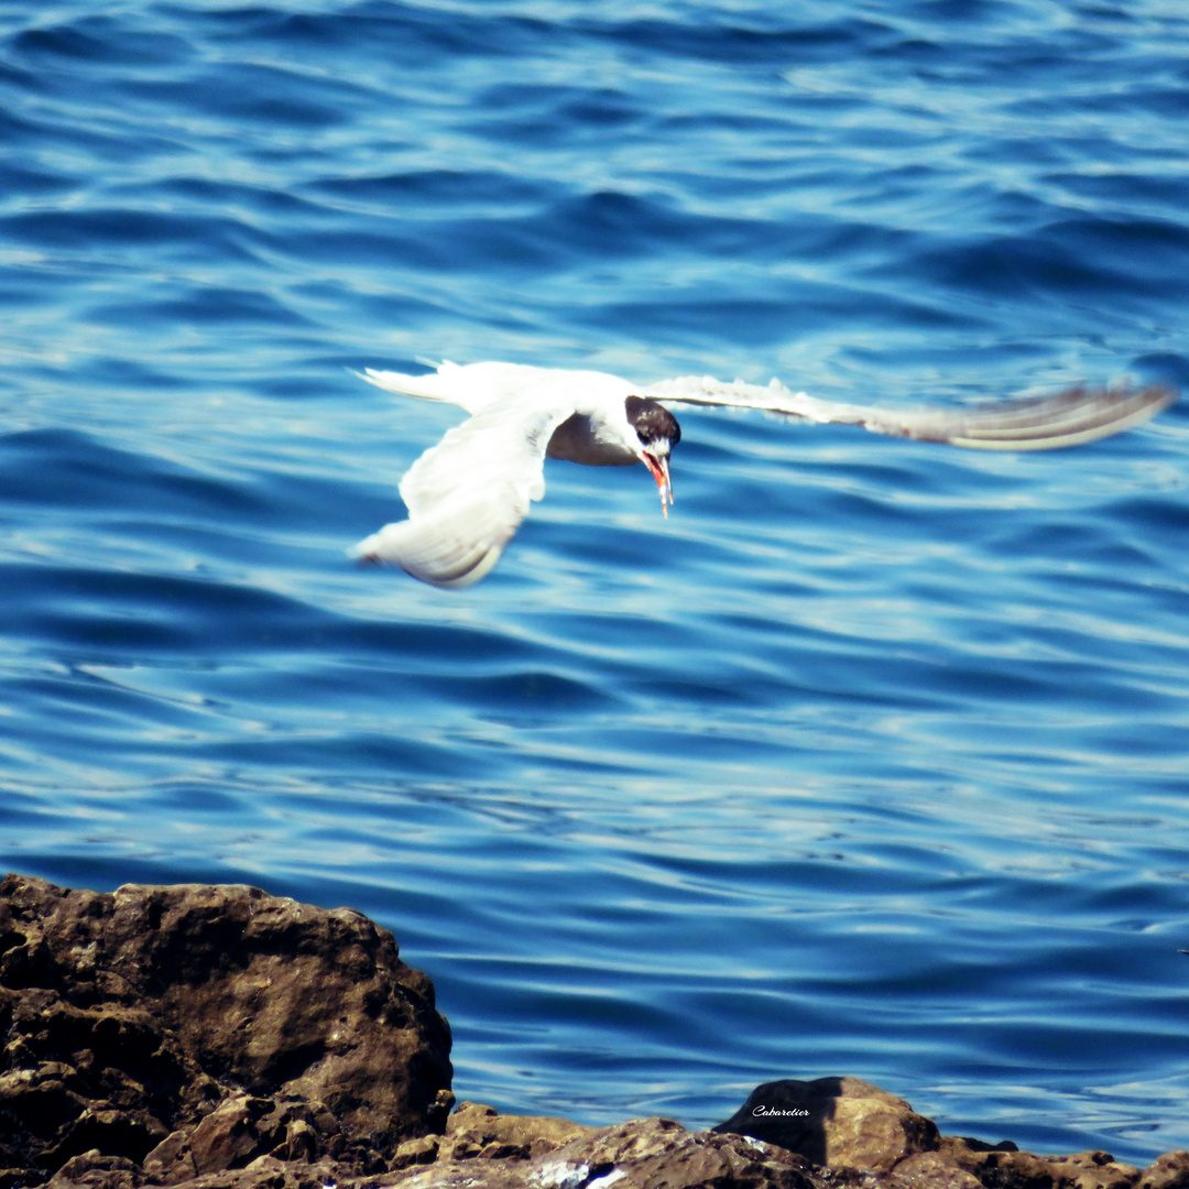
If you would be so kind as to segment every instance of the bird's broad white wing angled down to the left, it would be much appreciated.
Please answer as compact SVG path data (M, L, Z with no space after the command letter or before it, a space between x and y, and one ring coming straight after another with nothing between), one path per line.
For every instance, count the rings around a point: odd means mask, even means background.
M352 551L434 586L470 586L499 560L533 499L545 495L545 451L572 407L497 401L448 430L401 480L409 518Z

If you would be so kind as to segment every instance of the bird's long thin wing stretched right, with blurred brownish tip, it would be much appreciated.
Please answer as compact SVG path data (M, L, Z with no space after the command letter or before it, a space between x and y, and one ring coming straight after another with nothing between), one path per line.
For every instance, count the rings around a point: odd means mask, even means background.
M875 409L767 386L686 376L650 384L643 395L682 404L718 404L786 413L822 424L862 426L891 438L948 442L970 449L1057 449L1108 438L1139 424L1177 398L1172 388L1069 388L968 408Z

